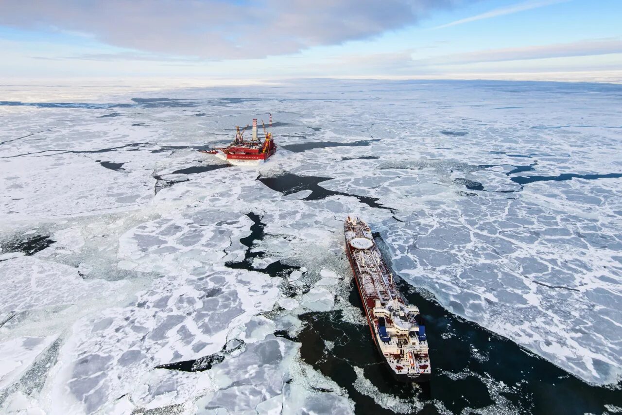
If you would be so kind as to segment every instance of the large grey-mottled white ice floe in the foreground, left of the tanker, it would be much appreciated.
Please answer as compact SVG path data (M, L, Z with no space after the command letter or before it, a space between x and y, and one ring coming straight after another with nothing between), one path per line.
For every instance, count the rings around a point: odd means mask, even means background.
M269 334L274 324L256 317L274 308L281 279L223 266L243 258L246 247L239 238L250 225L246 215L199 208L126 232L119 259L134 270L164 276L137 294L130 307L103 310L74 325L49 392L60 396L68 390L74 399L64 399L58 410L183 405L194 412L192 402L205 395L197 401L199 410L254 413L280 410L299 399L300 391L292 396L285 384L299 346ZM266 321L266 329L251 329ZM164 363L218 353L235 338L244 341L241 353L226 356L211 371L153 371Z

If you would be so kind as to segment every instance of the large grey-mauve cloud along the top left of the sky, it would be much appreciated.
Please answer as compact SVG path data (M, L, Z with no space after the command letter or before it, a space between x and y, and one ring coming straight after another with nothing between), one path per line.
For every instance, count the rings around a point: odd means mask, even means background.
M471 1L471 0L462 0ZM460 0L30 0L0 24L78 32L109 45L205 59L262 58L368 39Z

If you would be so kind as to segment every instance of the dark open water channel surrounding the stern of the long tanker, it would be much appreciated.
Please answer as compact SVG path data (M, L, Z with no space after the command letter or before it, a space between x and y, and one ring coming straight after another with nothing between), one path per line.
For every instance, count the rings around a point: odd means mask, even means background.
M376 243L384 246L381 238ZM508 414L603 414L605 404L622 407L620 385L617 390L588 385L516 343L451 314L429 293L402 280L398 287L425 317L434 375L424 385L396 383L383 366L368 326L344 322L340 310L301 317L306 324L297 338L302 358L348 391L356 413L394 411L356 390L353 366L363 368L365 378L381 393L424 403L415 411L420 414L439 413L439 404L452 413L476 413L495 401L501 404L493 413ZM362 315L353 280L350 288L348 301ZM334 342L331 350L324 340Z

